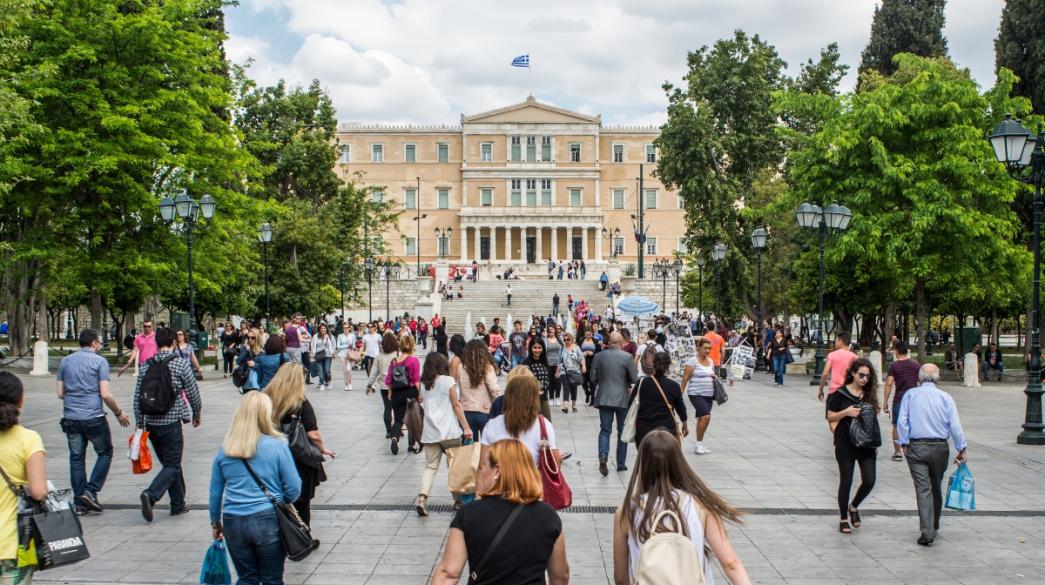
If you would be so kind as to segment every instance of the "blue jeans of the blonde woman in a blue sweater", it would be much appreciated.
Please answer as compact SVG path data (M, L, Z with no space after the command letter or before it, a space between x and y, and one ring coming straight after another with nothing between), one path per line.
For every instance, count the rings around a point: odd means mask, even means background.
M237 585L283 585L285 555L276 511L222 516L225 544L236 567Z

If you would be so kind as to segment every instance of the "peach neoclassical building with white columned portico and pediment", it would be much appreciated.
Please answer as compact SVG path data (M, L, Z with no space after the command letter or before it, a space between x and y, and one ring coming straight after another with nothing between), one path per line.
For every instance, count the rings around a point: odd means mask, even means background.
M640 204L646 260L684 252L682 202L653 177L657 135L531 96L454 126L341 124L338 166L401 211L381 235L385 257L524 273L583 259L590 273L636 261Z

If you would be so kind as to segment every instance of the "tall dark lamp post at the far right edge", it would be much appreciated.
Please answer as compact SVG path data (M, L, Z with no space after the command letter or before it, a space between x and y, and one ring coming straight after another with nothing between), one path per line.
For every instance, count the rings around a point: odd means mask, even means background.
M1034 285L1030 289L1030 367L1027 369L1026 410L1023 415L1023 430L1016 437L1021 445L1045 445L1045 425L1042 424L1042 382L1041 382L1041 224L1042 185L1045 184L1045 124L1038 124L1038 137L1023 127L1012 115L995 126L991 135L991 145L998 162L1005 165L1008 173L1028 185L1035 186L1034 235L1030 247L1034 252Z

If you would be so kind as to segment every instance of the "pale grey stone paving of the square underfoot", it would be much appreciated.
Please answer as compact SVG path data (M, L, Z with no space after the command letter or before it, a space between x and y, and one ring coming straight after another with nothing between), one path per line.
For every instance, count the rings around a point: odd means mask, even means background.
M122 448L130 432L110 417L116 457L100 494L108 509L83 518L92 558L41 572L36 582L198 582L210 539L210 465L238 400L220 374L208 371L206 376L203 425L185 429L192 511L170 518L158 508L155 523L141 518L138 493L152 475L131 473ZM356 389L364 385L362 377L355 374ZM41 432L49 449L48 477L67 486L68 449L59 428L62 406L53 394L53 378L23 380L23 422ZM769 376L760 373L751 381L738 382L729 389L729 402L714 412L705 439L712 454L693 454L693 444L687 442L687 459L697 472L749 512L745 523L730 526L729 534L753 582L988 585L1045 579L1045 447L1015 443L1023 420L1022 387L945 387L958 402L970 440L978 511L948 513L935 545L924 548L914 543L918 517L906 465L889 461L888 449L879 459L877 487L863 505L863 525L852 536L837 532L837 468L823 405L807 380L789 377L784 389L774 389ZM132 383L130 375L114 383L125 410L131 408ZM389 452L379 422L380 400L359 390L310 390L309 399L324 440L339 457L327 465L330 479L320 486L314 501L314 530L322 545L305 561L287 563L287 583L426 583L451 518L450 498L440 492L446 485L445 469L432 494L433 514L418 518L412 502L423 459ZM576 453L564 465L575 508L562 514L571 582L612 583L612 510L628 473L599 474L594 410L581 406L576 415L555 411L553 423L560 447ZM629 466L633 458L632 449ZM88 463L93 463L93 453ZM717 577L725 583L721 572Z

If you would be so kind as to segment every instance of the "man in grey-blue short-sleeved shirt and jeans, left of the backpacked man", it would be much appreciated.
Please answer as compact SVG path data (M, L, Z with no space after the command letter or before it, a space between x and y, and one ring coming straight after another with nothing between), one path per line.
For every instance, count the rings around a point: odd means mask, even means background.
M109 361L98 355L100 349L101 334L96 329L85 329L79 333L79 351L63 357L59 365L57 389L62 401L59 424L69 443L69 482L77 514L102 511L98 492L113 463L113 435L102 403L113 412L120 426L131 425L131 418L109 389ZM96 458L90 481L88 443Z

